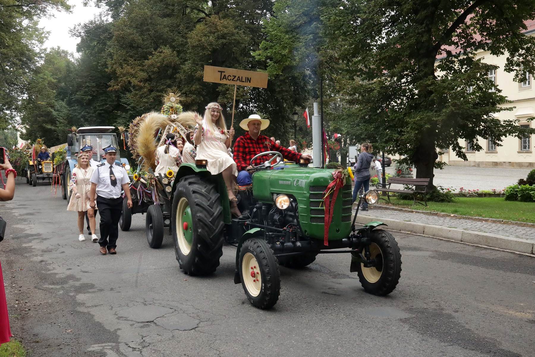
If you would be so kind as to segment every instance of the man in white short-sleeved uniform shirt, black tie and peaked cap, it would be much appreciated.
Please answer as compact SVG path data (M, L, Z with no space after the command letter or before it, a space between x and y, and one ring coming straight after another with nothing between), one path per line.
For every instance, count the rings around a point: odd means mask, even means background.
M96 207L100 211L101 238L98 240L100 252L106 254L106 248L110 254L116 254L117 238L119 237L119 219L123 212L123 196L121 190L124 190L128 208L132 208L132 198L128 184L128 173L123 166L115 162L117 149L113 146L104 148L106 162L97 165L91 175L90 197L97 194ZM95 207L95 201L89 202L90 207Z

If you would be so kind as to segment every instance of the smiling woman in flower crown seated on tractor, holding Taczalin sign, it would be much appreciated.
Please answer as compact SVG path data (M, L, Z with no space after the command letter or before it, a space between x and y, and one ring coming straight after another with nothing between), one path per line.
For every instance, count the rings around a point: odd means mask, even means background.
M241 216L238 209L238 199L233 192L233 186L238 170L236 163L228 156L227 149L231 146L234 128L227 131L225 118L221 113L221 107L217 103L210 103L204 112L204 118L195 116L197 127L193 136L197 145L197 160L208 161L207 169L212 175L222 173L227 187L228 199L231 201L231 213Z

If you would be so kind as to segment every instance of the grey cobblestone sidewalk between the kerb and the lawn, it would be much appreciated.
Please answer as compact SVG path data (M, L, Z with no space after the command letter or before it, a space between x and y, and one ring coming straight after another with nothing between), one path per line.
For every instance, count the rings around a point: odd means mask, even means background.
M370 209L368 212L359 212L358 215L376 218L396 219L404 222L432 224L448 228L467 231L499 234L501 236L521 238L535 241L535 228L515 226L510 224L488 223L463 218L448 218L435 215L426 215L418 212L404 212L390 209Z

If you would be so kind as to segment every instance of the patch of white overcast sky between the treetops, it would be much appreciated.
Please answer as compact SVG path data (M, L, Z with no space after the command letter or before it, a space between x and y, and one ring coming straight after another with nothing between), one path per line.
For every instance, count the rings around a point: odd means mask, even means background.
M71 13L57 12L53 18L41 19L39 25L45 31L50 32L44 47L59 46L76 55L76 45L79 39L78 37L69 36L69 29L80 22L83 23L93 19L95 14L101 12L102 9L97 9L94 6L83 6L82 0L69 0L68 3L72 6Z

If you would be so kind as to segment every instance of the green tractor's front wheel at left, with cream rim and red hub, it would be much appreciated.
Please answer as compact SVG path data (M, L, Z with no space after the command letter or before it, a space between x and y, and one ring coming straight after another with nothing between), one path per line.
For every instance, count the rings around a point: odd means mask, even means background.
M240 279L247 299L269 309L280 295L280 273L273 251L261 238L249 238L240 250Z

